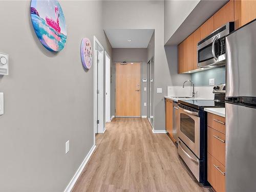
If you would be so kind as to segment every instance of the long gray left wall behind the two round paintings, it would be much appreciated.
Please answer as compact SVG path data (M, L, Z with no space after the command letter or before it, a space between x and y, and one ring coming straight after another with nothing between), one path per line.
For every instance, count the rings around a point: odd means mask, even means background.
M0 77L0 191L63 191L93 146L93 69L82 68L80 42L95 35L111 56L102 2L60 4L68 39L54 54L35 35L30 1L1 2L0 52L10 60L9 75Z

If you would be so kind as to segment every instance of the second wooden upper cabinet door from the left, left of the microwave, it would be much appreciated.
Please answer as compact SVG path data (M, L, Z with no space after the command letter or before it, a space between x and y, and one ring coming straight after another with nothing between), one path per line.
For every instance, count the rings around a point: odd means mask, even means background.
M193 36L192 33L184 41L184 71L193 70Z

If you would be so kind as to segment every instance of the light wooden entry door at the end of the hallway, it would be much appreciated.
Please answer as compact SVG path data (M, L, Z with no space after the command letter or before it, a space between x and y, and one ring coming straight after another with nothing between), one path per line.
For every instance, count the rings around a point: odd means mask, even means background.
M140 63L116 63L116 116L140 116Z

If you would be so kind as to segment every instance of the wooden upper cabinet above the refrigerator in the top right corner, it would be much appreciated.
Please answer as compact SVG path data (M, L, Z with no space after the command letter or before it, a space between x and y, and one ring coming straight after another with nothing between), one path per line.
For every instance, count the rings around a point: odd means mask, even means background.
M238 29L256 18L255 0L234 1L234 27Z

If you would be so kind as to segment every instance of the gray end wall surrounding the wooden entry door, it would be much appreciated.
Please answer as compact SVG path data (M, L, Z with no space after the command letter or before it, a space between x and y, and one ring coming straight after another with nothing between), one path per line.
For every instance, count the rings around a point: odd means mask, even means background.
M147 106L144 106L144 102L147 103L147 91L144 91L144 87L147 88L147 82L142 82L142 78L147 78L147 49L146 48L118 48L112 51L112 87L115 88L115 62L118 61L141 61L141 115L147 115ZM112 92L112 115L115 114L115 89ZM148 89L147 89L148 90Z

